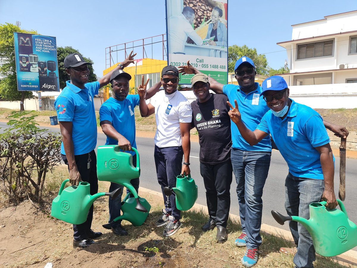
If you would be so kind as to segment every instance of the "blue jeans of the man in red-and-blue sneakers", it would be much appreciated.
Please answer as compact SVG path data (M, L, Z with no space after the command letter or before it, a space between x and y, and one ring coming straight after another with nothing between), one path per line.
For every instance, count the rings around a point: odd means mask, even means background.
M242 232L247 234L248 249L262 244L263 187L268 176L271 152L248 152L231 149L233 172L237 182ZM246 224L247 223L247 224Z

